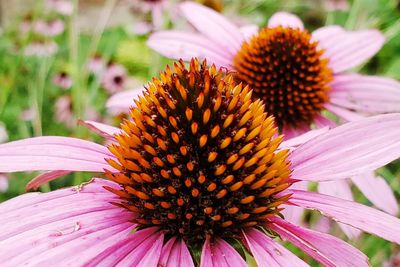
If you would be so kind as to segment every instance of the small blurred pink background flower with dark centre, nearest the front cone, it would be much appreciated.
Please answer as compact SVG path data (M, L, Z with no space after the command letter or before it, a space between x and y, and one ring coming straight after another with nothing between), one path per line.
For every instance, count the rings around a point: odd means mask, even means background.
M124 90L127 79L126 70L122 65L110 64L104 72L102 85L109 93Z

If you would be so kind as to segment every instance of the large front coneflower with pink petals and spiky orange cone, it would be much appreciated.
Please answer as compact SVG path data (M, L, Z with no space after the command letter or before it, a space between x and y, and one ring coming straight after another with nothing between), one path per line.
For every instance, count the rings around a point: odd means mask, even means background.
M105 172L111 180L0 204L2 264L247 266L247 250L259 266L308 266L277 242L280 236L323 265L368 266L342 240L285 221L283 204L316 209L400 243L395 217L290 189L398 158L399 114L285 144L262 102L221 70L193 60L190 68L179 62L160 77L121 129L86 122L112 141L108 147L54 136L0 145L1 172L50 171L29 187L72 171Z

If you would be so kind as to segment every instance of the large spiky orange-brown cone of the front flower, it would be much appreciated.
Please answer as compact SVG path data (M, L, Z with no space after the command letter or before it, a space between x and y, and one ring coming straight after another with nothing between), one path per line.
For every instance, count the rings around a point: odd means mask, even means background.
M206 62L153 79L109 147L121 205L143 227L199 244L263 225L289 199L287 150L248 87ZM279 194L279 195L278 195Z

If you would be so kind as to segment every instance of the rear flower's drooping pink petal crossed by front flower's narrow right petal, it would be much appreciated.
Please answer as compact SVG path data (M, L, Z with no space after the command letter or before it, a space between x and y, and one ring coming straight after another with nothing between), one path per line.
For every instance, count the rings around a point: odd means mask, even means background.
M353 194L351 193L351 189L347 180L320 182L318 183L318 192L321 194L353 201ZM339 226L350 239L357 238L361 234L360 230L352 226L342 223L339 223Z

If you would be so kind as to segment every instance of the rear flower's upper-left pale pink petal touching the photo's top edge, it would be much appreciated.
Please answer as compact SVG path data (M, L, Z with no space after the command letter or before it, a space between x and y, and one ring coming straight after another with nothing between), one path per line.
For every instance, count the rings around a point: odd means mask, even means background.
M195 2L184 2L180 9L185 18L204 36L219 44L231 54L236 54L244 38L233 23L211 8Z

